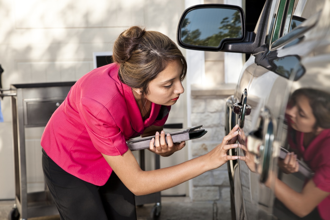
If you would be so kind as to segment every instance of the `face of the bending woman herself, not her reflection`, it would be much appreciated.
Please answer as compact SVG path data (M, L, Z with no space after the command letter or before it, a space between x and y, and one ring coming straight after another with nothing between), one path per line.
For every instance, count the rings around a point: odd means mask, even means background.
M166 68L149 82L149 93L145 95L146 99L159 105L175 104L180 94L184 92L180 78L182 68L181 60L169 62Z

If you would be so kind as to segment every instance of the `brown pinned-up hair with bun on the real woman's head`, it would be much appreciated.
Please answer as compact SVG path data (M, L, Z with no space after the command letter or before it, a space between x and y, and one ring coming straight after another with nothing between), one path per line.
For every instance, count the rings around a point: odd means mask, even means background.
M170 61L181 60L181 81L187 71L184 56L169 37L157 31L146 31L139 26L130 27L119 35L113 47L113 60L120 65L120 80L132 88L141 88L142 97L149 92L149 82Z

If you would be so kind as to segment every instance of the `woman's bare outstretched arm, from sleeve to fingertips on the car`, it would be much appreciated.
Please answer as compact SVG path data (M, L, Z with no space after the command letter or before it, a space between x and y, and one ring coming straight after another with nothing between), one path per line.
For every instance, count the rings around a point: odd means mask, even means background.
M142 171L132 152L123 155L103 155L126 187L135 195L146 195L179 185L206 171L216 169L237 156L227 155L227 151L237 147L236 126L223 141L209 153L172 167L153 171Z

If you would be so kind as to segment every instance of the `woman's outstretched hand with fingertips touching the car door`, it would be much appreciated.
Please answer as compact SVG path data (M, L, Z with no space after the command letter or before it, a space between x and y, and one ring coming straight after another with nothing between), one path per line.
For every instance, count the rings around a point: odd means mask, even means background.
M205 156L211 157L208 161L211 162L211 169L216 169L228 160L236 160L238 156L227 155L227 151L238 146L237 143L238 125L236 125L227 136L222 139L222 142L218 144L213 150L207 153Z

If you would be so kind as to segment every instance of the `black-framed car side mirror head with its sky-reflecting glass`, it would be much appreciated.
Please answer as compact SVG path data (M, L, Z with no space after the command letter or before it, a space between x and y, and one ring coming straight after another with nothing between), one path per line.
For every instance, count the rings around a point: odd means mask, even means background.
M178 26L178 43L187 49L220 51L226 42L241 42L245 35L241 7L195 5L184 11Z

